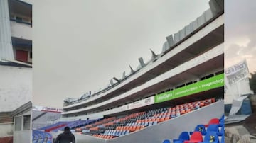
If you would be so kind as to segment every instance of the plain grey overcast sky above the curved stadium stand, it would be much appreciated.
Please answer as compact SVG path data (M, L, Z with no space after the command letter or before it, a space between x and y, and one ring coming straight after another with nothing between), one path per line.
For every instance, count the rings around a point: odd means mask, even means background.
M33 1L33 104L105 88L208 9L201 0Z

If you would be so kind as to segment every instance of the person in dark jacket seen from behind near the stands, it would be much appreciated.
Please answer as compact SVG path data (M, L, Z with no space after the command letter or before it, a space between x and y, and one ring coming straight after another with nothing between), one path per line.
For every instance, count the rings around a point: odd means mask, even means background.
M75 136L70 132L70 127L65 127L64 132L58 135L55 143L75 143Z

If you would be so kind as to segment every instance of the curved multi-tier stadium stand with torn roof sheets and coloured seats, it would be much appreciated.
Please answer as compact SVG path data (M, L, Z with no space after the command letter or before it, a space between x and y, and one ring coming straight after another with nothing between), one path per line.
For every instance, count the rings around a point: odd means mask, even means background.
M59 120L33 128L33 142L48 142L48 133L53 140L66 126L76 142L173 142L183 132L177 142L224 142L224 4L209 5L149 62L139 58L107 88L65 99Z

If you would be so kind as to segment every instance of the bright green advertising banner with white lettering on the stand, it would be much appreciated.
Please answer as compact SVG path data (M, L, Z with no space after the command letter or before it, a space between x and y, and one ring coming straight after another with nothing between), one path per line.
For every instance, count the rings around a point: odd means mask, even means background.
M158 94L154 96L154 103L169 101L174 98L180 98L183 96L191 95L193 93L208 91L210 89L218 88L221 86L224 86L224 74L219 74L209 79L198 81L195 84L174 89L173 91L168 91L165 93Z

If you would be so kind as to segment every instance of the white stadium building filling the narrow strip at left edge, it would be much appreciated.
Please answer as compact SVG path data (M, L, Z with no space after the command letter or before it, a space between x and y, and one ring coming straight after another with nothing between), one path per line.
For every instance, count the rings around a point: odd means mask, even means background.
M0 1L0 142L29 142L32 98L32 5Z

